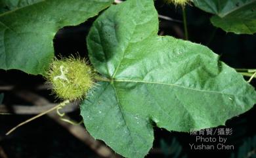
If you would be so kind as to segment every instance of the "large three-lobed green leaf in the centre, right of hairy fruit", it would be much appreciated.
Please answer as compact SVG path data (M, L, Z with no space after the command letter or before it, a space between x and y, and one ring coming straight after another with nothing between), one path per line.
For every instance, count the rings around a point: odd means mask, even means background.
M152 148L152 122L181 132L217 127L256 102L253 87L210 49L157 33L154 2L129 0L100 15L87 37L93 66L111 82L87 95L81 115L92 136L125 157Z

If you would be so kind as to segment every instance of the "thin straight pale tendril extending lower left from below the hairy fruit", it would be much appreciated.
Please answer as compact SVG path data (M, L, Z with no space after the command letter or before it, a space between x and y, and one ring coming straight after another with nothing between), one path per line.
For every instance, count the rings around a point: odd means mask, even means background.
M9 134L11 134L11 132L13 132L14 130L16 130L18 127L21 127L22 125L25 125L25 124L29 123L30 121L33 121L34 119L37 119L38 117L41 117L41 116L43 116L43 115L45 115L45 114L47 114L47 113L53 111L54 109L60 108L60 107L62 107L62 106L66 106L66 104L69 104L69 103L70 103L70 100L65 100L64 102L58 104L57 106L54 106L53 108L48 109L47 111L44 111L43 113L39 113L39 114L36 115L35 117L32 117L32 118L30 118L30 119L28 119L28 120L26 120L26 121L24 121L24 122L22 122L22 123L16 125L16 127L13 127L13 128L12 128L11 130L9 130L9 132L7 132L5 135L9 135Z

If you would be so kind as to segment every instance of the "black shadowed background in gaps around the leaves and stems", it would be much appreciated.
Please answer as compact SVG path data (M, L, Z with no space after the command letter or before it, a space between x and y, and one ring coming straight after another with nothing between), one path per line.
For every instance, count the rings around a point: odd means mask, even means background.
M165 5L158 0L156 8L161 15L182 20L180 7ZM221 60L232 68L256 68L256 35L226 33L212 26L209 21L211 14L190 5L186 7L186 12L190 41L206 45L215 53L220 54ZM85 37L95 18L91 18L79 26L65 27L59 30L54 38L56 56L60 54L69 56L78 53L80 56L86 57ZM159 33L183 38L182 22L160 18ZM14 87L11 90L1 91L5 94L3 104L9 106L10 109L14 104L32 105L31 102L17 95L22 92L25 95L26 92L33 92L51 102L59 101L51 95L51 90L37 89L45 83L45 79L40 75L28 75L18 70L0 70L0 76L0 87L9 85ZM245 77L245 79L248 78ZM251 85L255 87L256 79L251 81ZM154 128L156 138L154 148L147 157L256 157L255 112L256 107L227 121L225 128L232 128L232 134L225 137L228 138L228 144L234 145L234 150L192 150L188 144L195 142L195 136ZM79 110L75 110L69 115L77 121L81 119ZM87 144L75 138L66 128L47 116L24 125L11 135L5 136L5 132L10 128L32 116L0 115L0 157L102 157L95 152L95 149L89 148ZM103 142L101 143L103 144ZM1 152L5 153L1 154Z

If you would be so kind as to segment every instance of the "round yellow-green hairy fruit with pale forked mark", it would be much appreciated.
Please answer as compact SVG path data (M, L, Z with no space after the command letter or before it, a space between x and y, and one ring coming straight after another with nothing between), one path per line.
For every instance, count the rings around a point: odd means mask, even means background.
M93 87L93 73L85 60L64 58L53 60L47 80L53 84L53 92L58 98L75 100L83 98Z

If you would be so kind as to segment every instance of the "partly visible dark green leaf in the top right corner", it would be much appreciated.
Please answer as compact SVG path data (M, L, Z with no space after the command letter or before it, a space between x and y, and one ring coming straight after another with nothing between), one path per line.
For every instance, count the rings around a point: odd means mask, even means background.
M256 32L256 0L194 0L196 7L215 14L214 26L237 34Z

